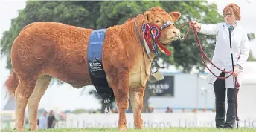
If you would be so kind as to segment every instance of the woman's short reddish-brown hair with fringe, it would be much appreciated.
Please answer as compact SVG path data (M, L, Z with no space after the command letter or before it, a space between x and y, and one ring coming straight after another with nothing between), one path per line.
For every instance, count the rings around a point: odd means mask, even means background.
M234 16L236 16L237 20L241 19L240 7L237 4L231 3L231 4L228 4L227 6L225 6L225 8L223 9L223 14L229 13L229 12L234 13Z

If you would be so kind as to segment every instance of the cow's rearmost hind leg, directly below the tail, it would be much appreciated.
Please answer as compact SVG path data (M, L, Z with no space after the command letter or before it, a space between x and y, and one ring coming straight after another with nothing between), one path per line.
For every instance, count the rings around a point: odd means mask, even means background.
M19 85L15 90L16 97L16 119L15 119L15 128L17 131L24 131L24 116L25 108L28 104L28 99L33 92L33 89L36 85L36 78L26 78L20 79Z

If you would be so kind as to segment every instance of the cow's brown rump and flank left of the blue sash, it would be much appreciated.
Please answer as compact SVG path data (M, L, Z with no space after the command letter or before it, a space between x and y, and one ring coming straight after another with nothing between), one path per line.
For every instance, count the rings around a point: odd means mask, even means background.
M19 58L17 65L26 73L49 74L77 88L90 85L87 47L91 32L57 22L29 24L13 44L13 59ZM22 71L19 67L16 70Z

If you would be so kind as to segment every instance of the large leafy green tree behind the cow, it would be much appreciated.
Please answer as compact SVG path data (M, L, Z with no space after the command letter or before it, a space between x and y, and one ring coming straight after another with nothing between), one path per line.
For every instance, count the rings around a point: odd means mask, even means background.
M7 56L7 69L11 70L10 49L13 41L19 35L19 31L32 22L61 22L78 27L100 29L123 24L127 19L153 6L161 6L167 12L181 12L182 17L176 22L176 27L190 20L206 24L223 21L223 17L217 13L217 5L208 4L207 1L27 1L26 7L19 10L19 16L11 20L10 29L3 33L1 56ZM181 29L182 36L187 27ZM255 38L253 33L249 33L248 37L250 40ZM199 39L205 53L211 57L214 52L215 37L199 33ZM172 55L166 56L160 53L156 61L163 59L164 65L175 65L186 73L190 72L192 67L200 71L205 69L192 31L188 39L173 42L168 49ZM91 94L97 95L93 91ZM147 96L144 96L144 99L149 99L150 94L145 95ZM148 108L147 100L144 100L145 104L145 108Z

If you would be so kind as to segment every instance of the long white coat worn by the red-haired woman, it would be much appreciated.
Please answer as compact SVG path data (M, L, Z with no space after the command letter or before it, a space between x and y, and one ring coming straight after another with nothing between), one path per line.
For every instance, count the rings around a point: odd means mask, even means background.
M228 26L226 23L217 23L217 24L201 24L201 30L199 33L207 35L216 35L216 44L214 50L214 56L212 57L212 62L214 65L225 71L232 71L232 60L231 60L231 49L229 42L229 32ZM249 57L249 40L247 33L240 27L239 24L236 24L233 32L231 33L231 47L234 59L234 65L240 65L243 67L246 64L246 61ZM244 67L243 67L244 68ZM220 76L221 71L216 67L211 65L210 70L217 76ZM230 75L225 73L225 76ZM216 77L209 73L207 80L208 84L214 84ZM237 81L242 87L243 81L243 70L240 70L237 76ZM225 79L226 88L234 88L233 76Z

